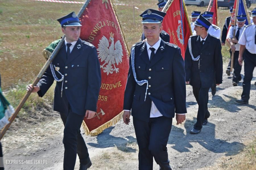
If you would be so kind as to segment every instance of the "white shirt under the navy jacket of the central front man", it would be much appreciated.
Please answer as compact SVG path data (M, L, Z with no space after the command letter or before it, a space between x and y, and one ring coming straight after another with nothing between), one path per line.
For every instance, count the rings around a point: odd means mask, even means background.
M150 60L150 55L151 55L151 50L150 48L153 47L155 48L155 54L160 46L160 42L161 42L161 38L159 37L159 40L158 42L156 42L153 46L150 46L148 44L148 42L146 41L146 45L147 45L147 52L148 52L148 58ZM130 111L130 110L124 110L124 111ZM178 114L178 113L176 113ZM181 115L184 115L185 113L181 114ZM162 114L160 113L160 111L157 109L156 105L154 104L154 102L152 101L151 102L151 110L150 110L150 118L153 118L153 117L160 117L162 116Z

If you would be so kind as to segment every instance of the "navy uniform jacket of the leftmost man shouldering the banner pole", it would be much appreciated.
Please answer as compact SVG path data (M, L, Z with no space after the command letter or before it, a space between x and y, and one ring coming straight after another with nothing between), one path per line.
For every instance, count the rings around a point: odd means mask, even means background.
M62 81L56 82L53 110L68 114L70 105L71 110L78 115L84 115L86 110L96 111L101 83L96 48L79 38L69 58L66 59L66 46L63 43L52 63L59 67L59 72L64 75L62 97ZM59 79L61 78L57 71L55 74ZM38 84L40 97L44 96L53 81L49 67L44 73L41 83Z

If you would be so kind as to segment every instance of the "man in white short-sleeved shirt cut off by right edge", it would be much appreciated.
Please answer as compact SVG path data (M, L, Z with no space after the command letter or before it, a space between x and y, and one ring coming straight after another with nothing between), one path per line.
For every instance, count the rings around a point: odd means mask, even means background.
M256 66L256 8L252 10L252 24L245 26L245 29L238 41L240 44L238 62L242 66L243 56L245 57L245 76L243 81L243 93L240 100L236 102L248 104L251 90L251 79Z

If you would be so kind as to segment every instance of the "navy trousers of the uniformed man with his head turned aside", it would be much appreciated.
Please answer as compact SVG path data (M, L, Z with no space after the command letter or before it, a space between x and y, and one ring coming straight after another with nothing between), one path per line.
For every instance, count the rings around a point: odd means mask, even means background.
M198 112L197 112L197 123L194 125L195 129L202 129L204 119L208 119L210 117L210 112L208 111L208 99L210 88L196 88L193 87L193 94L196 98L198 104Z

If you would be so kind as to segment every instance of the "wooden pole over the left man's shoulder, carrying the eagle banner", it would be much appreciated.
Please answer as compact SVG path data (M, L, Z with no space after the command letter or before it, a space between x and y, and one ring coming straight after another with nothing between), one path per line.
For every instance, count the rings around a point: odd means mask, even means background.
M78 12L77 16L78 18L80 18L80 16L82 15L84 9L88 6L88 4L90 3L91 0L86 0L86 2L84 3L84 5L82 6L82 8L80 9L80 11ZM49 59L46 61L46 63L44 64L43 68L41 69L41 71L39 72L39 74L37 75L37 77L35 78L35 80L32 83L32 87L36 86L36 84L38 83L38 81L41 79L41 77L43 76L43 74L45 73L46 69L49 67L50 63L53 61L53 59L55 58L55 56L57 55L57 53L60 50L60 47L62 46L63 42L65 39L65 35L62 37L62 39L60 40L60 42L58 43L58 45L56 46L56 48L54 49L53 53L51 54L51 56L49 57ZM16 108L15 112L11 115L11 117L9 118L9 122L8 124L5 125L5 127L3 127L3 129L1 130L0 133L0 140L3 138L4 134L6 133L6 131L8 130L8 128L10 127L11 123L13 122L13 120L16 118L16 116L18 115L19 111L21 110L22 106L25 104L25 102L27 101L27 99L29 98L30 94L32 93L32 91L28 91L24 97L22 98L22 100L20 101L18 107Z

